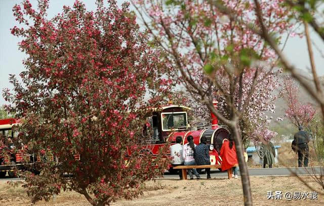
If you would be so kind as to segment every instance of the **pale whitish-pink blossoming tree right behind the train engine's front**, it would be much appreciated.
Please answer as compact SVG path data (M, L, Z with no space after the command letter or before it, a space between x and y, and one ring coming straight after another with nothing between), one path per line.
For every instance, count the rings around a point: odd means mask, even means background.
M277 95L274 94L274 90L276 89L275 85L280 86L278 75L280 75L281 70L271 71L270 73L264 71L261 72L262 74L259 76L260 80L256 84L258 89L252 94L247 109L242 113L239 119L239 129L245 146L247 146L250 140L255 137L255 132L258 133L259 131L263 131L266 125L268 125L267 121L269 118L265 113L274 113L275 111L275 100L277 99ZM265 78L262 78L263 75L265 75ZM249 88L251 88L253 81L251 79L245 79L244 82L246 84L242 85L244 88L243 91L247 92ZM226 77L224 77L222 87L228 87L228 84L228 79L226 80ZM238 85L236 85L236 87L238 87ZM235 90L234 101L236 109L238 109L238 94L239 91ZM224 95L214 93L213 98L218 102L218 111L228 118L230 106L226 103ZM247 99L247 93L244 94L244 99ZM187 104L194 108L195 116L199 117L199 119L206 119L207 122L211 122L211 115L209 114L209 110L205 104L192 99L188 99Z

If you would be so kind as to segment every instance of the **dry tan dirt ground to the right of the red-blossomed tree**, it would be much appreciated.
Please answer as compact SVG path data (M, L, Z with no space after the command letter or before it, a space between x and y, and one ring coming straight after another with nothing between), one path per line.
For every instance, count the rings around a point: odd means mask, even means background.
M310 180L310 177L306 179ZM132 201L119 200L112 205L243 205L240 179L213 180L158 180L147 185L161 185L163 189L144 192ZM254 205L324 205L322 195L318 200L267 199L267 191L310 192L295 177L252 177ZM319 188L319 187L318 187Z

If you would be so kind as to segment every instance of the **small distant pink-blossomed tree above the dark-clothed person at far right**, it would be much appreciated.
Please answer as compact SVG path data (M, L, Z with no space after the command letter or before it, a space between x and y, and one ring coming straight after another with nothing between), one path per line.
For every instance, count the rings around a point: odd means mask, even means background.
M300 91L294 85L293 80L286 79L284 81L283 94L287 100L287 109L285 110L286 117L296 127L304 126L307 127L308 123L314 117L316 110L310 103L303 104L300 101Z

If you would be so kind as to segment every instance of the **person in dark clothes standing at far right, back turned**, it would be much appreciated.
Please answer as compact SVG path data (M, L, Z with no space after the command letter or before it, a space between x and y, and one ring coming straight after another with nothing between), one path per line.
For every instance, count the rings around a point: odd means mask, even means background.
M304 131L303 126L299 126L299 132L295 134L294 141L298 152L298 167L302 167L304 156L304 167L308 167L308 142L309 137Z

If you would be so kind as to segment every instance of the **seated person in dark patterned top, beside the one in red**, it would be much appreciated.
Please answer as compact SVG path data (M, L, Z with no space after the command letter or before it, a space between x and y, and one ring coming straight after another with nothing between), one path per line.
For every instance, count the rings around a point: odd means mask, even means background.
M195 150L194 160L197 165L211 164L206 137L201 137L200 144L196 146ZM206 168L205 170L207 172L207 179L210 179L211 169Z

